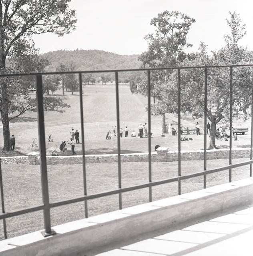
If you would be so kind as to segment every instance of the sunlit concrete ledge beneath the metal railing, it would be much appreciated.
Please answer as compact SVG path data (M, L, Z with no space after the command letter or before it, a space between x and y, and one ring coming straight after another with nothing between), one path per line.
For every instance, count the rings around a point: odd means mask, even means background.
M57 234L47 238L38 231L2 240L0 254L84 255L92 248L252 202L253 178L248 178L58 225L53 227Z

